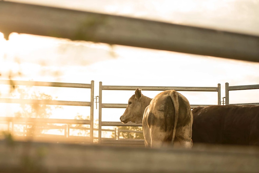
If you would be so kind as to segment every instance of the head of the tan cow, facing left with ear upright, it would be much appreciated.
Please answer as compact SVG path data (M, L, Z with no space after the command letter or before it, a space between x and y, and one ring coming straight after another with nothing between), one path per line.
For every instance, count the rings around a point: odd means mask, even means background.
M142 123L143 113L149 105L151 98L142 95L141 89L136 89L135 94L130 97L125 112L120 117L123 123L135 122Z

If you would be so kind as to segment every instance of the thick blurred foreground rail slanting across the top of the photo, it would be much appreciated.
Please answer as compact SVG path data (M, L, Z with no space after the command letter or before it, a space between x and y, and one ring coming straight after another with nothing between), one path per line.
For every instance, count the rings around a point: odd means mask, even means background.
M259 62L259 37L86 11L0 1L0 32Z

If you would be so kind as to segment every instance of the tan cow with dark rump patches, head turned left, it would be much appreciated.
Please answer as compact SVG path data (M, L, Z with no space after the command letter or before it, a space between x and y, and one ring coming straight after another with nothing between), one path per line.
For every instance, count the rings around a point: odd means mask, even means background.
M143 123L145 147L170 146L175 140L185 148L192 147L191 107L175 90L163 91L151 99L136 89L120 121Z

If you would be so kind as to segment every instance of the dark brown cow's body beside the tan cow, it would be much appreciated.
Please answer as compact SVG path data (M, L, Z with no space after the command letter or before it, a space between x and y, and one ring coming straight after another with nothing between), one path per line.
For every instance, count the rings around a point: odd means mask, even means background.
M194 145L259 145L259 106L197 107L192 113Z

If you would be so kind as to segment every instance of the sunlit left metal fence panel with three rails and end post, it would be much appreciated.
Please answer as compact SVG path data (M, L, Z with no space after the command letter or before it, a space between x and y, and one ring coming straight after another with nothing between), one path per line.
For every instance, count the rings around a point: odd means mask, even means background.
M43 86L43 87L67 87L67 88L88 88L91 91L90 102L86 101L63 101L63 100L35 100L35 99L12 99L0 98L0 103L23 103L23 104L43 104L43 105L66 105L66 106L87 106L90 107L90 120L67 120L67 119L35 119L35 118L18 118L18 117L0 117L2 122L28 122L28 123L76 123L90 125L90 142L93 142L93 106L94 106L94 81L90 84L81 83L64 83L64 82L38 82L38 81L16 81L0 80L1 85L26 85L26 86ZM8 125L9 126L9 125Z

